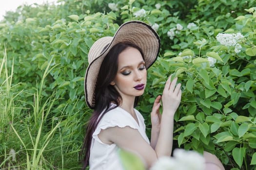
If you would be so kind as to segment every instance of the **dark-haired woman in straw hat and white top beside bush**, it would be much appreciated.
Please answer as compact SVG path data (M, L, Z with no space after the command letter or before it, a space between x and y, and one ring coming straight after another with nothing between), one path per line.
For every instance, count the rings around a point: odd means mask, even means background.
M174 114L181 99L177 78L168 78L162 96L154 102L150 141L144 119L134 108L159 49L158 34L140 21L122 24L114 37L100 38L91 47L84 85L87 105L94 112L83 146L84 169L89 163L91 170L122 170L118 148L137 153L146 169L158 157L171 155Z

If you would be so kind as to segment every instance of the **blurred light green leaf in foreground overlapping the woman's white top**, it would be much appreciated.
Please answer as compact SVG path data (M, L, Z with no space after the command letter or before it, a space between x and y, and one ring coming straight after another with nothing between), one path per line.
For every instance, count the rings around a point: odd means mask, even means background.
M145 170L144 163L137 154L122 149L118 150L118 154L124 170Z

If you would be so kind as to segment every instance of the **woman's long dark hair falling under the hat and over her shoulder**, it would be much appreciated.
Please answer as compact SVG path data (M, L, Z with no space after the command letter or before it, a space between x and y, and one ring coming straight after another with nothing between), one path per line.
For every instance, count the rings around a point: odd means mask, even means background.
M138 46L131 43L118 43L108 52L100 66L94 96L95 109L87 124L86 135L82 147L82 170L85 170L87 165L89 164L92 135L100 119L104 116L105 113L107 113L111 109L118 107L118 105L120 104L121 96L116 88L113 85L110 85L110 83L115 79L118 72L118 55L128 47L138 49L144 59L143 52ZM116 104L116 106L110 108L111 103ZM136 106L137 103L138 97L135 98L134 106Z

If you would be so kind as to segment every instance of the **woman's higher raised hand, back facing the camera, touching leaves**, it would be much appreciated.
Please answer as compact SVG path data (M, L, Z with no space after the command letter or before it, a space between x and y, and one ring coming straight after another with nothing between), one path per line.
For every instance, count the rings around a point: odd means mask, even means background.
M181 84L177 84L177 77L171 82L171 76L168 78L163 89L162 104L163 110L174 116L181 99Z

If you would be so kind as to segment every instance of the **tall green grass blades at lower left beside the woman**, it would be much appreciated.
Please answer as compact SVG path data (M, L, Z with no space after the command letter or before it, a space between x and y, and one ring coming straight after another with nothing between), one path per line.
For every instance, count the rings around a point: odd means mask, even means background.
M12 67L8 68L8 62ZM56 109L53 92L45 99L42 95L44 80L55 65L49 59L41 82L35 85L36 93L30 108L23 108L20 94L12 85L14 61L8 61L7 53L0 60L0 169L3 170L64 170L80 169L79 152L82 142L82 117L73 105L74 113L65 114ZM31 103L31 102L28 102ZM58 115L58 116L56 116Z

